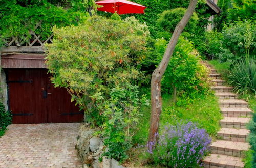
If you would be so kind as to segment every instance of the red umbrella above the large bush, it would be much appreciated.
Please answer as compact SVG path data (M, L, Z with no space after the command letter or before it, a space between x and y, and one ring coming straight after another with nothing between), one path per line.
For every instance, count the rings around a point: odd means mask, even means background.
M98 1L96 4L103 5L103 7L98 8L99 11L116 12L119 15L126 13L144 13L144 9L146 8L143 5L126 0L104 0Z

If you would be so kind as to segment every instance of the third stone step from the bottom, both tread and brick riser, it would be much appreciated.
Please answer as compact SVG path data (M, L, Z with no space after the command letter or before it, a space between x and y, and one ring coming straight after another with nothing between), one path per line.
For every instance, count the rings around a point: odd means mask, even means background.
M221 128L217 133L218 138L227 140L227 141L239 141L246 142L250 131L247 129L236 129L236 128Z

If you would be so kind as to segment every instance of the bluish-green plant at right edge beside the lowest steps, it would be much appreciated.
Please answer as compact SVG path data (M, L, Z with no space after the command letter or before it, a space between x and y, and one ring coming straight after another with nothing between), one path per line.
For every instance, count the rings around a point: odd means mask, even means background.
M256 110L256 109L255 109ZM248 128L250 130L249 134L249 143L253 152L252 165L256 166L256 113L253 114L253 118L250 121Z

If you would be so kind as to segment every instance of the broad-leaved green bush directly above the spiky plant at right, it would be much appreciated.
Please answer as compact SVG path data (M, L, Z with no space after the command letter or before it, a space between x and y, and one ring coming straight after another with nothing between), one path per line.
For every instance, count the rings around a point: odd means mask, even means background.
M236 21L225 25L222 31L223 40L221 52L222 61L236 62L246 55L256 57L256 21Z

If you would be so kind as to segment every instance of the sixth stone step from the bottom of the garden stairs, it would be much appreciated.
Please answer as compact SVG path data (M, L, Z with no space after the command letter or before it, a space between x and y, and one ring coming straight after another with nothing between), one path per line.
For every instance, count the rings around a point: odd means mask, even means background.
M248 104L244 100L240 99L220 99L220 107L248 107Z

